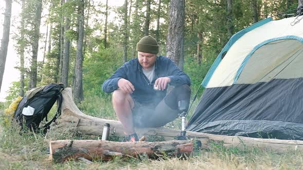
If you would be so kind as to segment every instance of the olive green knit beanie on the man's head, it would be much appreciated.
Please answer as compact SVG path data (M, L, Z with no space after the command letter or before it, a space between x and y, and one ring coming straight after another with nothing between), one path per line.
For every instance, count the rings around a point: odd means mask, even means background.
M151 54L159 53L159 46L157 40L148 35L140 39L137 43L137 51Z

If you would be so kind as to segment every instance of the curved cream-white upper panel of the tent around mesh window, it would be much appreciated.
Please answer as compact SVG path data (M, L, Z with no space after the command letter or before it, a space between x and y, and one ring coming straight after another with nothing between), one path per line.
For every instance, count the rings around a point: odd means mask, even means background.
M303 37L303 20L292 26L294 19L273 20L244 34L226 53L206 88L231 86L244 58L262 42L285 36Z

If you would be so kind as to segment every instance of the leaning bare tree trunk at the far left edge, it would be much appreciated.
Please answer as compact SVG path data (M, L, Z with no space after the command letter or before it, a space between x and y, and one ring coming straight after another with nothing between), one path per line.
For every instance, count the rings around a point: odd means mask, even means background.
M8 42L9 42L12 0L6 0L5 5L6 7L4 13L3 34L2 34L1 48L0 48L0 91L1 91L1 85L3 80L3 74L5 70L5 62L6 62Z

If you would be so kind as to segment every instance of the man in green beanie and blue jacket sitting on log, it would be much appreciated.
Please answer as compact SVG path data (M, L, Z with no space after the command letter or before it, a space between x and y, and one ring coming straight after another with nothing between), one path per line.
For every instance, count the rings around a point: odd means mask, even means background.
M125 62L102 85L112 94L112 105L131 141L138 141L134 127L156 128L186 110L191 95L190 78L168 57L158 56L157 40L148 35L137 43L138 58ZM175 88L166 94L168 84Z

